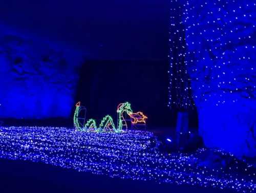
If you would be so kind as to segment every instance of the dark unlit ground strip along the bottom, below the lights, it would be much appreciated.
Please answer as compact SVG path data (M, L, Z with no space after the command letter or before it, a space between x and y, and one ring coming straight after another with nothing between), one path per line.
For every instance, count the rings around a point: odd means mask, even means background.
M195 192L231 193L188 185L120 180L25 161L0 160L1 193L34 192Z

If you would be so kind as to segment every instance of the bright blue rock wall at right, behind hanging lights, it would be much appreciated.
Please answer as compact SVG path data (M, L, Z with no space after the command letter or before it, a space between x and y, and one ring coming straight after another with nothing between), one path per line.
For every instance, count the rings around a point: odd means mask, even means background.
M208 147L256 156L256 4L183 3L186 63Z

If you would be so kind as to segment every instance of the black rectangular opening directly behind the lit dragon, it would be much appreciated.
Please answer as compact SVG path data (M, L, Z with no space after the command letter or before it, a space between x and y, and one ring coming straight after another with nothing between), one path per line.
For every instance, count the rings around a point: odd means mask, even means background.
M134 112L148 116L149 126L174 126L167 107L167 60L92 60L80 69L76 101L86 106L87 118L116 120L117 105L129 101Z

